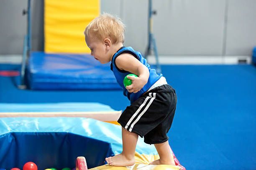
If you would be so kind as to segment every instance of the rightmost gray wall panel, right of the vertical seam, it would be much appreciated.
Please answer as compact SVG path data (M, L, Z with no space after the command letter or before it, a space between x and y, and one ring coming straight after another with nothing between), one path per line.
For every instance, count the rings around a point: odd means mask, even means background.
M226 55L246 55L256 46L256 0L229 0Z

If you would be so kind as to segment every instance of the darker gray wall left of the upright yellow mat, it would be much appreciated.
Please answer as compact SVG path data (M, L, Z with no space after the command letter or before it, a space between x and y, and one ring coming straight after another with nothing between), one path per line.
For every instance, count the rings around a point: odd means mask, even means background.
M31 0L32 50L44 50L44 1ZM28 0L0 0L0 55L22 54Z

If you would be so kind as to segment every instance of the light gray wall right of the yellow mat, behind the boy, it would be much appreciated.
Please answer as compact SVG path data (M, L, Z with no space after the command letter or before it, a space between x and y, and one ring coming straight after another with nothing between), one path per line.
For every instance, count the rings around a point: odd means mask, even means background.
M101 2L127 26L125 45L144 52L148 0ZM159 55L244 56L256 46L256 0L153 0L153 9Z

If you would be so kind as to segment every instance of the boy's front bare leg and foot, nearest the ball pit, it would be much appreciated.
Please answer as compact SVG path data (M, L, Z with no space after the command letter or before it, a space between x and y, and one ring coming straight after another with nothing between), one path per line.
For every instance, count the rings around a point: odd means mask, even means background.
M122 127L123 152L119 155L106 158L111 166L131 166L135 163L134 155L138 141L138 134L129 132Z

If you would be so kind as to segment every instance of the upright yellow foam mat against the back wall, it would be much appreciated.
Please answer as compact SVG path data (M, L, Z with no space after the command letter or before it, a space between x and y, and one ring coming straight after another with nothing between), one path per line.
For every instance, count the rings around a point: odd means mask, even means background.
M45 52L90 53L83 32L99 13L99 0L45 0Z

